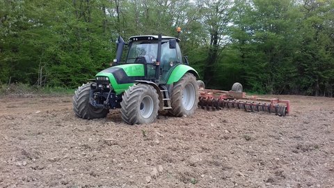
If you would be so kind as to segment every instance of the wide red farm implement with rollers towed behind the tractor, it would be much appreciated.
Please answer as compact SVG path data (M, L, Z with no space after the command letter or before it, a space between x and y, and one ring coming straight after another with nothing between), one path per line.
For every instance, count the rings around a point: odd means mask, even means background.
M198 106L207 110L220 110L223 108L237 108L245 111L267 111L277 116L288 116L290 111L289 100L267 99L257 96L248 96L242 92L242 85L234 83L231 91L205 89L204 82L198 81Z

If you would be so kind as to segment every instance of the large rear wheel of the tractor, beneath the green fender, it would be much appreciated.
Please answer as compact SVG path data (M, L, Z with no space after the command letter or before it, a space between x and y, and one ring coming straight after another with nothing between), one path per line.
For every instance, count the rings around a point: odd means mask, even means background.
M198 84L193 74L184 74L174 84L171 100L171 111L174 116L191 116L195 113L198 104Z

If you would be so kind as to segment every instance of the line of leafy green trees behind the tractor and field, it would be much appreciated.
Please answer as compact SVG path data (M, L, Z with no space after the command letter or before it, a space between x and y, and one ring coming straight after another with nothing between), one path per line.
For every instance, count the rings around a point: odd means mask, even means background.
M177 36L207 87L334 91L333 0L0 0L0 83L79 86L118 36Z

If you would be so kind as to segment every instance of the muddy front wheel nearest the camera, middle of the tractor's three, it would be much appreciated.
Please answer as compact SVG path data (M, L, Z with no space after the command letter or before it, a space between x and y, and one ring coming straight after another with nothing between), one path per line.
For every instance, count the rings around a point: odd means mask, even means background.
M158 115L158 93L150 85L134 85L125 91L120 106L122 120L125 123L130 125L152 123Z

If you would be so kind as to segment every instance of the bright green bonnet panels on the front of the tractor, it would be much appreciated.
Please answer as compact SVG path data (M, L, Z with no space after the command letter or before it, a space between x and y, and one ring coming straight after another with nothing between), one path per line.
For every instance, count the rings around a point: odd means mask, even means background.
M145 75L143 64L117 65L117 66L113 66L112 68L122 68L122 70L125 71L128 77L143 77ZM101 72L97 73L95 77L108 77L111 83L111 86L113 87L116 94L122 94L124 91L126 91L129 88L129 86L134 85L134 83L118 84L115 77L113 77L113 74L111 72L106 72L106 70L102 70Z

